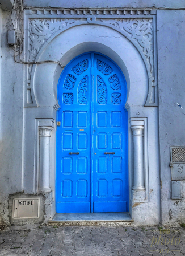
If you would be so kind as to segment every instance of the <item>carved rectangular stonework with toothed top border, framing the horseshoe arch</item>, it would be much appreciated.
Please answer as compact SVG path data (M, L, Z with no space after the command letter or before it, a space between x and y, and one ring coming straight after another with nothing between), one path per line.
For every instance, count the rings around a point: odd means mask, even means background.
M155 10L26 10L28 17L28 62L35 62L41 47L49 38L77 25L102 25L112 27L127 37L140 52L148 70L149 91L145 105L157 105L157 74L154 55ZM28 65L31 80L32 64ZM36 106L33 89L27 106Z

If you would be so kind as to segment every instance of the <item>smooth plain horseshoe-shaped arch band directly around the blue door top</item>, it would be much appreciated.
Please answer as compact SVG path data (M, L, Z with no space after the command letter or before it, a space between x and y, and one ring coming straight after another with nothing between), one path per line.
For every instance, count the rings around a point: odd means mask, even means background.
M84 52L101 52L114 60L123 71L128 84L128 92L130 92L127 99L128 104L145 105L148 95L148 75L140 52L125 36L120 36L116 30L112 30L110 27L105 29L104 26L96 25L98 30L95 31L94 26L91 24L75 26L58 34L58 36L54 36L52 40L44 44L45 47L41 48L36 61L47 59L51 55L51 60L57 60L65 66L75 56ZM74 32L79 35L75 40L73 39ZM86 32L86 36L84 32ZM108 40L106 33L111 34L111 38ZM54 77L56 72L58 74L58 70L61 74L62 68L58 64L33 65L31 81L39 106L50 103L55 105L54 108L58 108L56 87L51 88L53 83L56 86ZM131 88L129 88L130 86ZM47 101L45 94L47 94ZM136 97L134 95L139 96L134 99Z

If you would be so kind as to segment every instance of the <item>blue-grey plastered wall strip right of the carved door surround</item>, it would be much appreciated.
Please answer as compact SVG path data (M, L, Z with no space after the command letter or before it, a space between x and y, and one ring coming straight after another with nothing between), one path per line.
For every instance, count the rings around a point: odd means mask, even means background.
M184 198L171 200L170 168L170 146L185 145L184 29L185 10L157 11L161 216L166 225L185 221Z

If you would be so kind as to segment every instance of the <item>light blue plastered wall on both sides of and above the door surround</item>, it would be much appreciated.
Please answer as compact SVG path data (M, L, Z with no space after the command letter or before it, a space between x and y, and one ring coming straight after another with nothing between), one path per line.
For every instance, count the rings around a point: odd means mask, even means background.
M24 4L28 7L48 8L157 8L161 215L163 224L184 222L184 201L179 200L175 204L176 200L171 200L171 169L169 164L170 145L185 145L185 0L102 0L101 2L98 0L25 0ZM163 10L160 10L160 8ZM174 10L167 10L165 8ZM184 8L184 10L175 10L176 8ZM8 223L8 196L9 194L22 191L22 181L25 178L24 173L22 173L23 159L30 159L29 152L23 152L22 148L24 140L23 128L29 126L29 124L23 123L23 64L14 62L14 51L11 47L7 46L7 30L12 29L10 14L8 11L3 11L0 15L3 18L0 29L2 31L2 70L0 73L0 201L3 202L0 205L0 215L3 217L3 221ZM178 107L176 103L182 105L184 109ZM28 115L31 115L31 110L31 108L27 108ZM39 111L40 108L37 108L38 118L40 117ZM33 127L30 126L30 130L34 128L34 125ZM32 183L30 180L28 181L31 187L29 189L31 190Z

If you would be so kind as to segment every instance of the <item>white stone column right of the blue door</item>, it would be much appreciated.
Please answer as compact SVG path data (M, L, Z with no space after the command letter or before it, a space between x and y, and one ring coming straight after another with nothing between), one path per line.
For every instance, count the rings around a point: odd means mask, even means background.
M145 190L144 181L144 121L131 121L133 135L133 190Z

